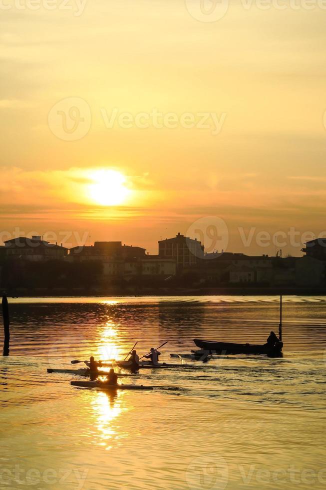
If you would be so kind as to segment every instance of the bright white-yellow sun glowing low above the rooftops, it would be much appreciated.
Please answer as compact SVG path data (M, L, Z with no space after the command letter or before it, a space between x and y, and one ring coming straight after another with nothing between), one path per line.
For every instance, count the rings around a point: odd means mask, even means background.
M89 177L92 183L88 185L88 194L93 202L102 206L122 204L131 192L126 187L126 177L117 170L95 170Z

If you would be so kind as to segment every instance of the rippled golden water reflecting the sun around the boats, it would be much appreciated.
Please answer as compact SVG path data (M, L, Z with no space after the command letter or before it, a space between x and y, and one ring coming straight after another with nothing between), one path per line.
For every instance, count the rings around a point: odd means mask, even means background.
M326 298L284 298L283 358L146 370L110 394L70 386L71 359L264 343L277 297L9 299L0 360L0 488L325 488ZM77 366L76 366L77 367ZM75 377L76 379L79 379ZM179 389L177 389L179 388Z

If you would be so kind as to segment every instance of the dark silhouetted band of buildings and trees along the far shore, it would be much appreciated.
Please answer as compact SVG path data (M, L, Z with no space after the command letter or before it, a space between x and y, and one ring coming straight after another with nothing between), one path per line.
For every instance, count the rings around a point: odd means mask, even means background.
M12 238L0 246L0 277L2 286L10 283L13 288L22 282L37 287L53 282L56 288L66 284L76 288L80 282L82 288L114 281L137 287L160 283L168 288L326 286L326 238L311 240L302 250L303 257L205 254L199 240L178 233L159 240L158 254L150 255L143 247L121 241L95 241L68 249L34 235Z

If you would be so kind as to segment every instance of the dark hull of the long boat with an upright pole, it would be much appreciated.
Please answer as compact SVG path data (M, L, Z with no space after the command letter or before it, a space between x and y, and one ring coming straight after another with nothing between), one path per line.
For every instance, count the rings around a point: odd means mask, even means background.
M269 356L281 355L283 342L275 345L255 345L250 343L214 342L194 338L194 342L200 349L217 354L266 354Z

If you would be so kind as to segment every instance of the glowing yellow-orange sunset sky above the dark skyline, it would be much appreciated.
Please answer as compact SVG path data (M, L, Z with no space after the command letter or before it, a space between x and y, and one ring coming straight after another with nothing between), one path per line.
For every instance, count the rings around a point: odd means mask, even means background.
M232 0L216 21L199 0L26 3L0 7L2 239L154 253L217 216L228 251L274 254L238 227L326 230L326 3Z

